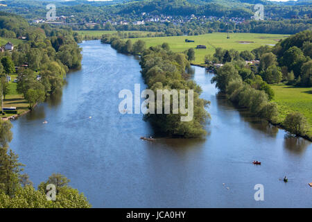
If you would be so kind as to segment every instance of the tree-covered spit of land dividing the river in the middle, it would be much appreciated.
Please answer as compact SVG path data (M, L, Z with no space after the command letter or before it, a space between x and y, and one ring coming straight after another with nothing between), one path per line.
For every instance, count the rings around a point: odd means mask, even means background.
M186 89L186 91L193 89L193 120L180 121L180 117L184 115L181 112L178 114L171 112L170 114L148 113L144 115L144 120L149 121L157 133L187 138L202 137L207 133L205 122L210 116L205 110L205 106L209 104L209 101L199 98L202 89L193 80L189 80L189 74L186 70L190 68L190 63L184 53L173 53L167 43L146 49L145 42L142 40L132 44L131 40L124 42L119 37L108 34L103 35L101 42L111 44L120 53L140 55L142 76L148 89L153 90L155 95L157 89L168 89L168 91L171 89L177 89L177 91L179 89ZM155 97L157 99L157 96ZM162 105L164 110L164 103Z

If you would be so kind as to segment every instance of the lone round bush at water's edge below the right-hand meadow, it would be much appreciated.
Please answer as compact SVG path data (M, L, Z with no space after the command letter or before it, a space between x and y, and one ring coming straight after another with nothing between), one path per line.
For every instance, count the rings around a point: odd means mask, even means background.
M296 136L306 133L306 118L300 112L288 114L284 120L284 127L289 133Z

